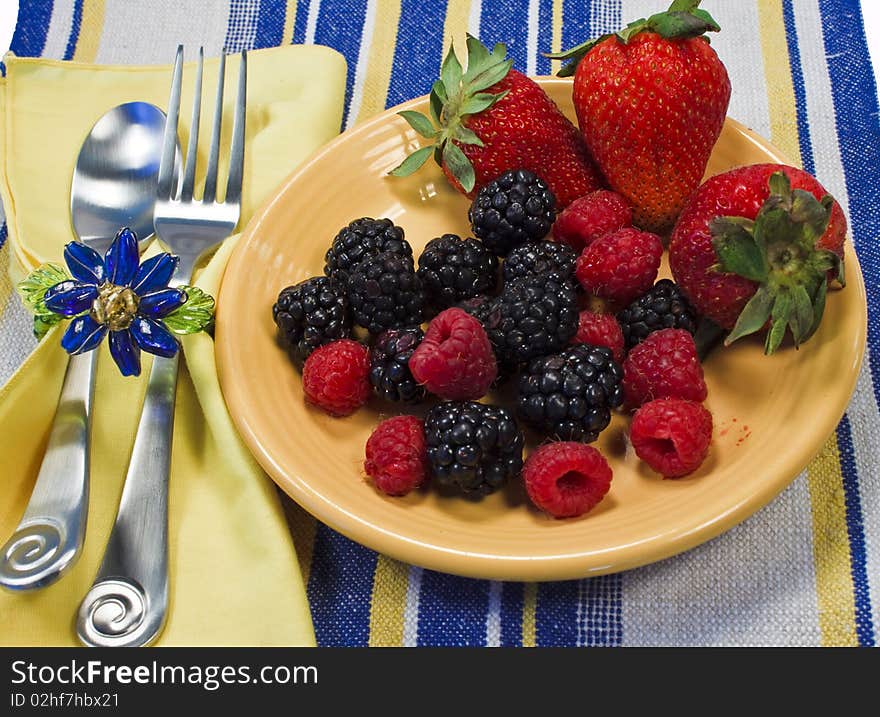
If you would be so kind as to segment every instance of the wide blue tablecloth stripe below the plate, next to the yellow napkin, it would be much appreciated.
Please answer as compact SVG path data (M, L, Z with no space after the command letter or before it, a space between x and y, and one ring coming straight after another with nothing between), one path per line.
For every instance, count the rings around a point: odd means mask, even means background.
M318 523L308 598L321 647L366 647L376 553Z

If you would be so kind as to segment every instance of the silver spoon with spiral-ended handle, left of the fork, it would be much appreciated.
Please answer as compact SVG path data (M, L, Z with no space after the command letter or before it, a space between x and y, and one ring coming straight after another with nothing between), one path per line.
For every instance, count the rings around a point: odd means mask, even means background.
M99 254L121 227L153 236L165 114L129 102L102 116L86 137L73 172L70 212L80 241ZM179 172L177 173L179 175ZM59 348L59 350L61 350ZM0 548L0 585L42 588L81 552L89 502L89 427L97 351L71 356L49 443L24 516Z

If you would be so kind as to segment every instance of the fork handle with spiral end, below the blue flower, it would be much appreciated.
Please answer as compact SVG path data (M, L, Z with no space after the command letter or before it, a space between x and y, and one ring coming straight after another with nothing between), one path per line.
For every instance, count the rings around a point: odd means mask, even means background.
M179 354L156 357L104 559L76 628L93 647L138 647L161 631L168 606L168 477Z

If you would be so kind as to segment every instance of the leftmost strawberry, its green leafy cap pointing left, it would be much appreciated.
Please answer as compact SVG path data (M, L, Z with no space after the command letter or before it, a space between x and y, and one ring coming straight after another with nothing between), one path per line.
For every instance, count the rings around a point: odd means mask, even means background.
M433 144L391 170L408 176L433 154L453 187L470 199L510 170L527 169L550 186L560 208L600 187L580 132L534 80L511 68L507 48L490 52L468 36L467 71L450 47L431 89L431 118L400 116Z

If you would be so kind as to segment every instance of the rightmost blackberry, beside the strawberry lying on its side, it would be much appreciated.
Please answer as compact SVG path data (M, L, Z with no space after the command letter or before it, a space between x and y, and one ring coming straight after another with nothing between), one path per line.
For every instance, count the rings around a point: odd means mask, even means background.
M648 334L660 329L697 331L697 312L678 284L661 279L647 293L617 314L626 350L640 344Z

